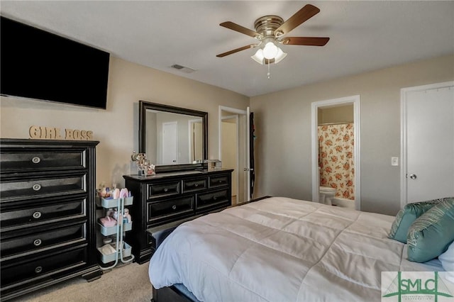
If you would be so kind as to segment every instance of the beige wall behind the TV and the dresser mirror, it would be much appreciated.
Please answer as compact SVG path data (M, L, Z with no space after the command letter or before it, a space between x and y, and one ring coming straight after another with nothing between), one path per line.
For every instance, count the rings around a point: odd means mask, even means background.
M218 106L245 110L249 98L216 86L135 65L111 57L107 109L97 110L28 99L0 99L1 138L29 138L31 125L93 130L96 186L131 172L131 152L138 150L138 101L208 112L209 158L218 157Z

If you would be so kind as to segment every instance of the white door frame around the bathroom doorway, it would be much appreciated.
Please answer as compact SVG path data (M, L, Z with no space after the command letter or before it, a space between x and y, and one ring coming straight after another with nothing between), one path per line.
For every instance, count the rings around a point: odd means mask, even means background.
M361 144L360 144L360 95L345 96L338 99L329 99L325 101L315 101L311 104L311 141L312 141L312 201L319 202L319 149L317 126L319 125L318 109L327 106L349 105L353 104L353 130L355 145L353 147L353 156L355 157L355 210L361 209Z

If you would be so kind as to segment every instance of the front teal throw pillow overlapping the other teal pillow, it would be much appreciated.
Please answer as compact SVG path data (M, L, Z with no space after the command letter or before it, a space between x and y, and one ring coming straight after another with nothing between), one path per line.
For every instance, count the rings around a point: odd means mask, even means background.
M427 262L443 254L454 240L454 198L436 204L411 224L406 237L408 259Z

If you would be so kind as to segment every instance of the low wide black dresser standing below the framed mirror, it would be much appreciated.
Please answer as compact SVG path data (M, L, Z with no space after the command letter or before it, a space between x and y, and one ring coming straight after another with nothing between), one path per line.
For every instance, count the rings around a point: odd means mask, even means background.
M126 234L135 262L148 262L155 251L149 228L231 206L232 172L216 169L162 172L153 177L123 176L135 201L131 207L133 230Z

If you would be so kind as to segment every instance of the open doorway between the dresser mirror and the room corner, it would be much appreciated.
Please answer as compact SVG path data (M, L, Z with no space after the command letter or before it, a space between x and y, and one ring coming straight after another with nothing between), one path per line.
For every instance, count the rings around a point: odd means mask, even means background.
M232 204L249 201L248 111L219 106L219 160L232 173ZM228 166L227 166L228 165Z

